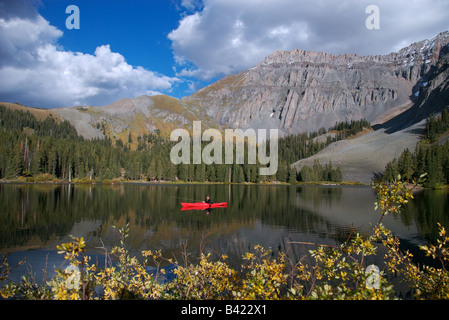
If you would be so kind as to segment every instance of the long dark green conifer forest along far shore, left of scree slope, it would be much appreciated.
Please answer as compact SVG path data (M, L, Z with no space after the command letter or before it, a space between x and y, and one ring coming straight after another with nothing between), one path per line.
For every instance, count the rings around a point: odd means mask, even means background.
M329 136L320 141L315 139L317 135L280 138L278 172L275 176L260 176L259 164L174 165L170 150L175 143L159 132L137 137L137 148L131 150L132 139L125 142L109 138L85 140L67 121L57 122L51 117L38 121L30 112L0 106L0 179L49 174L62 180L85 181L116 178L197 182L335 181L341 173L330 163L323 166L317 163L310 172L302 174L291 167L293 162L312 156L338 139Z

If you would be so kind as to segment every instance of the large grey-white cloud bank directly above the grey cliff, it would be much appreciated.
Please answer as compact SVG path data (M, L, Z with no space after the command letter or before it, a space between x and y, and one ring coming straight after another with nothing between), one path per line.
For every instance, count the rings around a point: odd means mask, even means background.
M365 27L371 4L380 9L379 30ZM197 8L168 37L178 74L204 80L277 50L387 54L449 27L449 2L440 0L204 0Z

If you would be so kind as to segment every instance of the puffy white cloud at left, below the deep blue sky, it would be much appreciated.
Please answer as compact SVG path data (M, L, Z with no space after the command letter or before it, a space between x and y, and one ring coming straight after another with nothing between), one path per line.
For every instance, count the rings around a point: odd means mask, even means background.
M0 97L34 107L104 105L170 90L176 78L128 64L109 45L65 51L42 16L0 17Z

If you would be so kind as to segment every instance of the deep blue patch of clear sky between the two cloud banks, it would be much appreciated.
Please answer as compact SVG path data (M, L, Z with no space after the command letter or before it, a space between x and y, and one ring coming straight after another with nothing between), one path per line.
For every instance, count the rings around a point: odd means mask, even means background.
M80 29L68 30L65 26L69 17L65 10L70 4L80 9ZM37 8L46 20L64 32L58 43L65 50L94 54L99 45L109 44L111 51L119 52L130 65L176 77L168 34L190 12L180 1L44 0ZM189 82L177 82L168 94L182 98L191 92Z

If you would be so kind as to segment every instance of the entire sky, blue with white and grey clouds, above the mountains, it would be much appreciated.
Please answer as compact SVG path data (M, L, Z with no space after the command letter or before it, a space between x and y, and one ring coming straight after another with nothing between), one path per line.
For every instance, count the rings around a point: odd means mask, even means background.
M79 30L66 28L69 5ZM0 101L182 98L277 50L388 54L447 29L447 0L0 0Z

